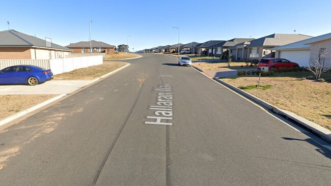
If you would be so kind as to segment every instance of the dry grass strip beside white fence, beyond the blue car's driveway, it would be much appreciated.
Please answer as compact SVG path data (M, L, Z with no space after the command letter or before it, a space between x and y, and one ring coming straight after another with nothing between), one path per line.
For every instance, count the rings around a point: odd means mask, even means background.
M54 75L55 80L92 80L125 66L124 62L103 61L102 65L81 68L71 72Z

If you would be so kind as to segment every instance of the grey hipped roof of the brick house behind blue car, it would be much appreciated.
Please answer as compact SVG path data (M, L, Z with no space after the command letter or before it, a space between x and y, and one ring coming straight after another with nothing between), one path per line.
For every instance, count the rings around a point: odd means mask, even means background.
M69 48L51 43L46 46L46 41L35 36L26 35L10 29L0 32L0 47L43 47L56 50L72 51Z

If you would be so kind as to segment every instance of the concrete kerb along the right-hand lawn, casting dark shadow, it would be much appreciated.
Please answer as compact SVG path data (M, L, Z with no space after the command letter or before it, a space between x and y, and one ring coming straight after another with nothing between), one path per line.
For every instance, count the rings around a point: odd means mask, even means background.
M262 107L265 107L271 111L273 111L274 113L277 113L279 115L282 115L286 118L291 119L292 121L295 121L299 126L307 129L308 131L318 135L319 137L321 137L322 139L324 139L325 141L327 141L328 143L331 143L331 131L328 129L325 129L319 125L317 125L316 123L309 121L301 116L298 116L292 112L286 111L286 110L282 110L279 109L273 105L271 105L270 103L267 103L223 80L218 79L217 77L214 78L215 81L225 85L226 87L232 89L233 91L237 92L238 94L244 96L247 99L252 100L253 102L259 104Z

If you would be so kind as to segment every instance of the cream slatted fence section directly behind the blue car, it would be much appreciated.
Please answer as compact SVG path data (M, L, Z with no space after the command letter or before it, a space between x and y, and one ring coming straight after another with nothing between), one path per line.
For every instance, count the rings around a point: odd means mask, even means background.
M0 70L13 65L35 65L49 69L48 59L0 59Z

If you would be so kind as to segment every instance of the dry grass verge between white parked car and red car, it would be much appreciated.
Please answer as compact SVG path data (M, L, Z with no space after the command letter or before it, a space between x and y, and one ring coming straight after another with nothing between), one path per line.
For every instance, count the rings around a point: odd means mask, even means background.
M202 69L202 70L205 70L205 71L229 70L227 62L223 62L223 63L206 63L206 62L199 63L199 62L197 62L197 63L193 63L193 65L198 67L199 69ZM256 69L256 67L250 67L250 66L247 67L245 62L231 62L230 63L230 69L249 69L249 68Z

